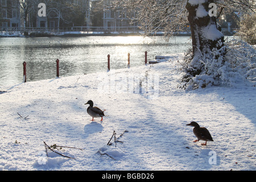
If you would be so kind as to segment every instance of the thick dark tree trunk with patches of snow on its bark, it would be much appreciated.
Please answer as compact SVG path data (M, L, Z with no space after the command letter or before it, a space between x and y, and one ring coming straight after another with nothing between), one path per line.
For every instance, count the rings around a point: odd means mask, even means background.
M224 42L224 35L218 30L216 17L209 16L210 3L214 1L188 0L186 5L193 46L191 70L188 71L191 76L200 75L203 71L204 57L208 56L213 48L220 48L217 46L219 40Z

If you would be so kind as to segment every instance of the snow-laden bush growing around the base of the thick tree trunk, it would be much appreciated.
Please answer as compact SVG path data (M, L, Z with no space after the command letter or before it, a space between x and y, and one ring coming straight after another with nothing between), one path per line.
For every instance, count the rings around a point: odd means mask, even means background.
M184 56L182 69L184 71L180 88L186 90L205 88L212 85L236 86L243 82L246 85L255 86L256 63L255 48L246 42L236 39L230 40L222 45L219 41L212 52L201 55L200 73L193 72L194 69L192 52Z

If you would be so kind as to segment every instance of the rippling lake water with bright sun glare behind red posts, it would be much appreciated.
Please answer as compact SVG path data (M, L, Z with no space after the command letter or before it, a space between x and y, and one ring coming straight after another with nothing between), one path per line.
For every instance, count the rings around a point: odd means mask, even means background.
M192 46L189 36L176 36L168 42L162 36L79 36L50 38L0 38L0 85L23 81L23 61L27 81L56 77L56 59L60 60L60 77L127 68L144 64L155 56L187 51Z

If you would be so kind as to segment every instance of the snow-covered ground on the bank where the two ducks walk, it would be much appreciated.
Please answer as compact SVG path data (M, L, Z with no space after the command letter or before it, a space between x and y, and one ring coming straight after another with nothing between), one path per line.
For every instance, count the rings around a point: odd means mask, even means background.
M0 87L0 169L255 170L256 87L188 92L177 68L173 59ZM102 122L90 121L88 100L105 110ZM191 121L214 142L194 143ZM114 131L121 142L108 146ZM44 142L83 150L47 157Z

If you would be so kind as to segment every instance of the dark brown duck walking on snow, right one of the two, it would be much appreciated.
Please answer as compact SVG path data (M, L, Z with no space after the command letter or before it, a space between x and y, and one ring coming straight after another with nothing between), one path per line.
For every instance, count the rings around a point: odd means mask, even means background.
M193 133L196 135L197 140L193 142L198 142L199 140L204 140L205 143L202 143L203 146L206 146L207 141L213 141L212 136L205 127L200 127L197 122L192 121L187 124L188 126L194 126Z

